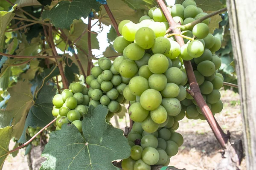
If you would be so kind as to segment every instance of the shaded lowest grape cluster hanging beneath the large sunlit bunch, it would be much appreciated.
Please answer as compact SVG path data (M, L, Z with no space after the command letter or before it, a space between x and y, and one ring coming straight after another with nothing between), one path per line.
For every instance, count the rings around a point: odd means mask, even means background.
M170 120L174 122L174 119ZM183 137L174 129L178 126L159 127L154 133L148 133L142 124L135 122L128 134L131 156L122 161L123 170L150 170L151 165L168 166L170 158L178 153Z

